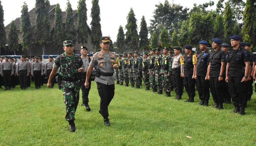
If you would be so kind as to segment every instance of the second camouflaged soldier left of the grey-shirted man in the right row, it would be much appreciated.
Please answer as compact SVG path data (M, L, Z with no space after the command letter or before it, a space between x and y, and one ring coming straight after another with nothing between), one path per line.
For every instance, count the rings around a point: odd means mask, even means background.
M155 49L155 80L156 80L156 86L158 88L158 94L163 94L163 85L162 85L162 75L160 74L161 71L161 65L162 65L162 55L160 54L160 48Z

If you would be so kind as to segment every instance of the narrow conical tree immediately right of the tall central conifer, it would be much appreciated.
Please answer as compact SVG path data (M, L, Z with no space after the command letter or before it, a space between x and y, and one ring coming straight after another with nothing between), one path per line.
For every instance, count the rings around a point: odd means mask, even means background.
M142 16L141 22L140 22L140 32L139 32L139 49L140 50L144 50L144 49L148 49L148 29L147 29L147 23L145 20L145 17Z

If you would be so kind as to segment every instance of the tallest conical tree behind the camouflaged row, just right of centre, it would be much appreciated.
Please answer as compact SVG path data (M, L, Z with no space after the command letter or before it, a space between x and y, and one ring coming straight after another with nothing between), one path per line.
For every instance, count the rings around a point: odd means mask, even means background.
M139 35L138 35L138 27L137 27L137 19L135 18L135 14L133 9L130 9L130 12L127 16L127 24L126 28L126 40L125 43L129 50L137 50L139 47Z

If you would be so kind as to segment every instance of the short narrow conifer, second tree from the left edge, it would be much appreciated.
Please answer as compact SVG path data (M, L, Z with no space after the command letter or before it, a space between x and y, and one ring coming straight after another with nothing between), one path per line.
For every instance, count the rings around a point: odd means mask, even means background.
M8 49L10 51L14 51L14 54L16 50L19 50L19 38L18 38L18 31L17 27L15 26L14 21L10 23L10 29L9 29L9 35L8 35Z

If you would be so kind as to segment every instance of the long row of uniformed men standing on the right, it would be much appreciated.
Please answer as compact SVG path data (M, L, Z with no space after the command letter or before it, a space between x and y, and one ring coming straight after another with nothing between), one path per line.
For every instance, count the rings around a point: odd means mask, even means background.
M127 87L136 85L140 88L142 79L146 90L150 87L152 91L170 97L170 91L174 88L175 99L180 100L183 89L188 94L185 102L194 102L195 85L199 94L200 105L208 106L211 95L214 108L223 109L223 103L234 105L235 113L245 115L247 101L251 100L252 83L255 80L255 55L250 52L251 44L241 42L239 35L231 38L229 44L222 43L221 39L212 39L212 51L207 50L209 43L200 41L201 52L192 54L192 46L185 45L185 53L181 54L181 48L173 47L174 57L169 48L151 49L150 56L143 52L143 59L138 51L118 55L119 69L116 72L117 84ZM158 92L157 92L158 90Z

